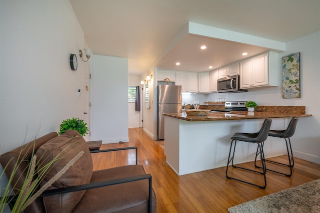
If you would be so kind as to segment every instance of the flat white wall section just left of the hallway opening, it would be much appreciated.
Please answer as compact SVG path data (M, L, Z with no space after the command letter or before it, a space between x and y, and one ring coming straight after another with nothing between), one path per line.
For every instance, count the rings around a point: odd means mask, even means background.
M91 73L91 140L128 139L128 59L93 55Z

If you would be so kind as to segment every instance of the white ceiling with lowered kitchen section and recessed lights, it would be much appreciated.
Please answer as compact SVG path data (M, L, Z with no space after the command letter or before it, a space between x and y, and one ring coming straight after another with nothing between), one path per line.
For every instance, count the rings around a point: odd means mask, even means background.
M262 43L285 43L320 31L320 0L69 1L93 54L128 58L129 75L141 75L155 65L208 71L242 59L244 51L248 57L272 49L252 44L250 36ZM246 40L189 31L182 35L189 22ZM201 45L207 48L201 50Z

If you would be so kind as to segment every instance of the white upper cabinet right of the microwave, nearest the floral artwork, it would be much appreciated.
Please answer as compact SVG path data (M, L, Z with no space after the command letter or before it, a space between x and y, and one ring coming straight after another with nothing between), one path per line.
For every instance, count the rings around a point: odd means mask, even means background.
M240 61L240 88L278 86L277 55L270 51Z

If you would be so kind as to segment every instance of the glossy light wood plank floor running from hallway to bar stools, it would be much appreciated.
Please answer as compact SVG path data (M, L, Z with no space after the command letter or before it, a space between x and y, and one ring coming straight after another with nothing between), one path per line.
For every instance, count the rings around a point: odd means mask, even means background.
M225 167L177 176L165 163L163 149L142 128L129 128L128 135L128 143L102 144L101 149L138 147L138 164L143 165L145 172L152 175L157 213L227 213L227 209L232 206L320 178L320 165L297 158L294 159L291 178L267 172L265 190L226 179ZM135 164L134 151L92 155L94 170ZM283 161L284 157L273 160ZM244 165L252 166L252 163ZM270 167L272 165L268 168ZM261 179L260 175L252 175L239 169L230 168L230 171L247 181L259 182Z

